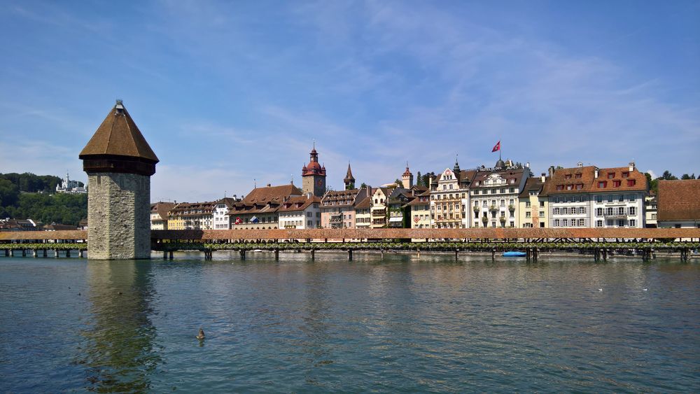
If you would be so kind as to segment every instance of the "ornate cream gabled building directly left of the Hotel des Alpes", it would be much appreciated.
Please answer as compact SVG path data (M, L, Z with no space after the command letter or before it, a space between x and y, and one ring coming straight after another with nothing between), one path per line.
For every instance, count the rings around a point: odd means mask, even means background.
M469 186L477 174L474 170L461 170L454 162L452 169L444 169L430 181L430 212L433 228L469 227Z

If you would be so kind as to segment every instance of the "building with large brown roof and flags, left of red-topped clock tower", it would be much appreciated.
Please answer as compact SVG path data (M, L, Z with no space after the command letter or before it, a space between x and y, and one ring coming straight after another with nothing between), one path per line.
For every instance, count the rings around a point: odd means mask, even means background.
M279 207L292 197L301 197L302 191L289 185L253 188L244 199L228 211L231 230L271 230L279 228Z

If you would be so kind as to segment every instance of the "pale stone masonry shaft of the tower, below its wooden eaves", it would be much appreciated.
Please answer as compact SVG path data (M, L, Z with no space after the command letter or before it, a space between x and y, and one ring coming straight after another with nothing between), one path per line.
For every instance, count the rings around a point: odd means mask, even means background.
M97 173L87 182L88 258L151 258L151 177Z

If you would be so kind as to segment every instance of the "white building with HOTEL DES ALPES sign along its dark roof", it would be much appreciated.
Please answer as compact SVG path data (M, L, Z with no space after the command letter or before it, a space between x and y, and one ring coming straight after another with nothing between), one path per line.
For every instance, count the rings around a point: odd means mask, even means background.
M493 168L477 169L471 183L472 227L519 227L519 194L530 177L530 165L498 159Z

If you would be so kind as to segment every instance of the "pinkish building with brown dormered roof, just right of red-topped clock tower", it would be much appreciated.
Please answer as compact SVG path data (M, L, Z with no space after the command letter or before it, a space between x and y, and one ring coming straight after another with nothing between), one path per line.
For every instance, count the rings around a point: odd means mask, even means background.
M355 207L369 195L371 188L328 190L321 198L321 226L354 228Z

